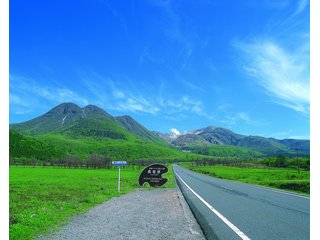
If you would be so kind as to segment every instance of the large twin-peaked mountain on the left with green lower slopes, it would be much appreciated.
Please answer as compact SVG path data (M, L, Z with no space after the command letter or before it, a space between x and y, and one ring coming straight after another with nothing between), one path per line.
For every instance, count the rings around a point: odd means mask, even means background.
M168 145L129 116L115 118L93 105L80 108L73 103L63 103L35 119L11 124L10 132L28 139L29 145L42 143L45 149L53 146L60 155L86 158L91 154L101 154L111 159L127 160L199 157ZM12 134L10 141L10 152L14 153L17 146L21 146L21 141ZM21 156L24 154L12 154L12 157ZM41 159L57 156L48 152L46 158L41 156ZM30 158L31 155L26 153L25 157Z

